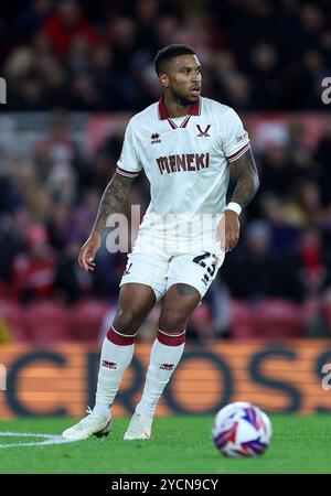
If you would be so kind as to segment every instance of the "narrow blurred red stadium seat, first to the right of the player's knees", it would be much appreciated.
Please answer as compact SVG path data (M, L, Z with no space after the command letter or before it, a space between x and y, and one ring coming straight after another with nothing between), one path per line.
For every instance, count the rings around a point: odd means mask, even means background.
M252 308L246 302L235 300L231 302L231 337L234 339L256 338L255 321Z

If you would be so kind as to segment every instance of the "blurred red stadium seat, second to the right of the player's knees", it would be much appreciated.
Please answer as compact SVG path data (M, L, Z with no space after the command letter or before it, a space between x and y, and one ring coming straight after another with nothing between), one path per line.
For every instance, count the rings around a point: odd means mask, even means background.
M260 338L303 337L301 309L287 300L260 301L254 308L256 332Z

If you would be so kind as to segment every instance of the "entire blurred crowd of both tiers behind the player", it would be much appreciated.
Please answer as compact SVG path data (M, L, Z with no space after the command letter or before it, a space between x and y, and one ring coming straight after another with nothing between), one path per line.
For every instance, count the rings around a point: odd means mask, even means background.
M0 303L29 308L51 299L75 308L98 299L109 304L99 333L111 323L126 255L109 254L104 242L94 273L78 268L77 256L115 172L124 128L88 155L67 110L132 114L154 101L154 54L177 42L196 50L203 94L239 112L327 110L320 93L331 60L330 22L327 0L6 2L6 110L57 110L47 114L52 123L28 154L19 144L15 153L0 154ZM298 336L330 335L331 120L324 122L312 147L298 119L286 142L259 148L253 137L261 186L242 215L238 247L190 320L192 338L261 337L275 322L285 336L299 327ZM148 203L141 175L122 212L130 219L131 204L143 214ZM158 311L142 338L153 334Z

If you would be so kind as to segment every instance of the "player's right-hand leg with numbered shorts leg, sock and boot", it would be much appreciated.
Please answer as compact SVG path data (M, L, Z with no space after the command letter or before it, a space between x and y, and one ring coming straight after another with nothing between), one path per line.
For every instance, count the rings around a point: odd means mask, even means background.
M184 351L189 316L215 279L224 255L203 252L174 257L169 266L167 293L153 343L141 401L125 439L148 439L154 410Z

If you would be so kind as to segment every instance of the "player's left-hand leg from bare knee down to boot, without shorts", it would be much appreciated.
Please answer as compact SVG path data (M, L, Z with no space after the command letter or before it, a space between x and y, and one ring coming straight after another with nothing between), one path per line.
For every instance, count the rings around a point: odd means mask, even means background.
M95 407L88 410L87 417L63 432L65 439L84 440L92 434L108 434L110 407L132 359L137 330L154 302L154 291L147 284L126 283L120 288L118 311L102 347Z

